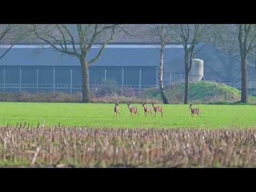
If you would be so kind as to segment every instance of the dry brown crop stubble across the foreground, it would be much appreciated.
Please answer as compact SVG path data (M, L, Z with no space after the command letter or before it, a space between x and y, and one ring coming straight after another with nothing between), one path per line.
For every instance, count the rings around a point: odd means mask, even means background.
M256 167L255 129L0 127L0 159L44 167Z

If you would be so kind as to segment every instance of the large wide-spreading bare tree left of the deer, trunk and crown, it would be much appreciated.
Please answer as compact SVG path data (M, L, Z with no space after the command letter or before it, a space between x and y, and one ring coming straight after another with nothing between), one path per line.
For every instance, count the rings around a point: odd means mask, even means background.
M79 60L82 68L82 102L90 102L89 66L100 58L105 46L113 41L117 30L129 34L128 28L121 24L33 25L35 35L42 42ZM99 52L88 60L88 54L96 43L100 44Z

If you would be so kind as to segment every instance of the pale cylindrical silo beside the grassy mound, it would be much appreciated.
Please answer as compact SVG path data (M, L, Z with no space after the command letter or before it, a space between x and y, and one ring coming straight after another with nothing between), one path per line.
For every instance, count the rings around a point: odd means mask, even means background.
M190 70L190 82L198 82L204 76L204 60L193 59Z

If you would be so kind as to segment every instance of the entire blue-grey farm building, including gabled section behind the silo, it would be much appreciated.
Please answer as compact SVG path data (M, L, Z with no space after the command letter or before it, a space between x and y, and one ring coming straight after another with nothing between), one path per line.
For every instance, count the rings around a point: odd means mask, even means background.
M202 47L201 47L202 46ZM0 53L7 49L0 45ZM239 82L239 60L232 59L210 45L199 43L202 48L196 55L204 60L206 80ZM99 51L92 47L89 59ZM183 81L183 46L170 44L164 53L164 84ZM113 43L106 46L99 60L89 68L90 85L100 85L111 80L121 87L145 89L158 84L159 46L154 43ZM231 66L230 66L231 65ZM256 69L249 65L249 80ZM81 91L82 75L76 57L61 54L42 45L15 45L0 60L0 91L42 92Z

